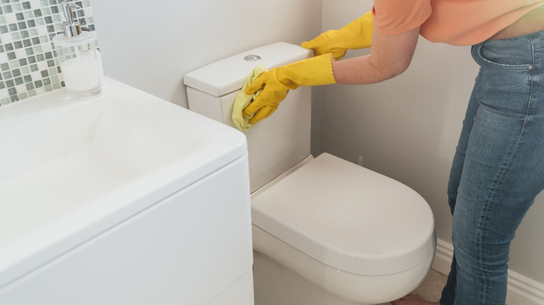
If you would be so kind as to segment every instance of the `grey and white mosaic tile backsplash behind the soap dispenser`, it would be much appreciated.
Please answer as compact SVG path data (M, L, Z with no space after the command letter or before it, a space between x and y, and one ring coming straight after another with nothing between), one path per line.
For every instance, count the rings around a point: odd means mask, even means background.
M0 107L64 86L52 45L62 33L61 0L0 0ZM82 29L94 31L89 0L73 0Z

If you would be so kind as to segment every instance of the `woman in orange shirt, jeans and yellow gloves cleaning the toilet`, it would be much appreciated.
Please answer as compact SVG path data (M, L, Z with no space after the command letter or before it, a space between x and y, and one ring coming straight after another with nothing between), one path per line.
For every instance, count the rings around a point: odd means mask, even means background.
M370 31L372 26L372 31ZM371 14L303 47L316 56L275 68L246 93L243 111L271 115L289 89L372 84L404 72L418 36L472 45L481 66L453 160L448 198L454 257L439 303L416 295L394 305L504 305L510 243L544 189L544 1L375 0ZM340 59L346 49L367 56Z

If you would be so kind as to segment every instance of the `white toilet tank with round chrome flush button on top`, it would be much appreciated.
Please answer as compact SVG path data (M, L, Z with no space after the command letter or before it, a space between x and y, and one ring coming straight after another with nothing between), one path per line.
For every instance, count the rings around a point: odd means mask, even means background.
M276 42L189 72L183 77L189 109L236 128L231 119L234 98L257 65L272 69L312 55L298 45ZM300 87L269 118L243 132L252 192L310 155L310 115L311 88Z

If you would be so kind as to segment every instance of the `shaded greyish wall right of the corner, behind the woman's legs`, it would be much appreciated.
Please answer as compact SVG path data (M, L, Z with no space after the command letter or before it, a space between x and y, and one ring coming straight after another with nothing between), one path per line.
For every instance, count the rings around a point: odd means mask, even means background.
M323 1L323 31L338 29L372 8L370 0ZM351 52L352 56L364 52ZM370 86L319 88L320 143L315 150L404 182L435 213L437 235L451 241L446 186L464 111L478 66L469 47L432 44L420 38L410 68ZM316 111L318 111L316 109ZM317 145L317 144L316 144ZM544 283L544 196L517 230L511 269Z

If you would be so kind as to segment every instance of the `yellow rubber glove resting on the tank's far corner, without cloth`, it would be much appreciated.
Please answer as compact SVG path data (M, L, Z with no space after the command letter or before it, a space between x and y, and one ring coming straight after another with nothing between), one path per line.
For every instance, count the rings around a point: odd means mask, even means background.
M372 11L355 19L339 30L329 30L313 40L302 42L302 47L314 49L315 56L332 53L335 60L345 56L347 49L363 49L372 44Z

